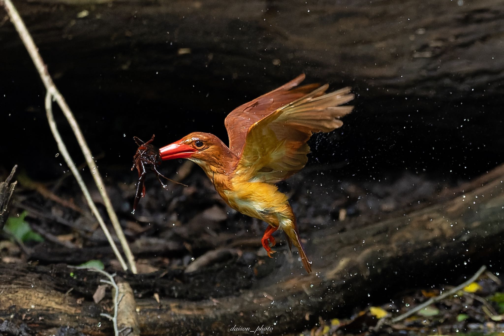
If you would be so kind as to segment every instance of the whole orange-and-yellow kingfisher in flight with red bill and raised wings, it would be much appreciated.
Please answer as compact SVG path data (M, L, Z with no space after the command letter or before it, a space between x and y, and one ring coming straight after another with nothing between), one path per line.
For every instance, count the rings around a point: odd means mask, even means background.
M299 251L304 268L311 262L299 240L296 218L276 182L306 165L306 144L314 132L341 127L353 106L350 88L326 93L329 85L298 86L304 75L235 108L224 124L229 147L210 133L193 132L159 149L161 160L184 158L198 164L231 208L268 223L261 239L268 256L275 251L272 234L285 233L289 248ZM157 153L156 153L157 154ZM145 191L144 191L145 192ZM271 244L271 247L270 247Z

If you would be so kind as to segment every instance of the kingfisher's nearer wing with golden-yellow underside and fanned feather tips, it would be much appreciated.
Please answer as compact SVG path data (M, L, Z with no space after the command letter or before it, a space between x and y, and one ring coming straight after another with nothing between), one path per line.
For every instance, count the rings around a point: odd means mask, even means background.
M291 82L292 83L292 82ZM304 167L313 132L330 132L343 125L339 119L353 106L350 88L327 93L328 85L291 101L251 124L236 166L248 180L268 183L285 179Z

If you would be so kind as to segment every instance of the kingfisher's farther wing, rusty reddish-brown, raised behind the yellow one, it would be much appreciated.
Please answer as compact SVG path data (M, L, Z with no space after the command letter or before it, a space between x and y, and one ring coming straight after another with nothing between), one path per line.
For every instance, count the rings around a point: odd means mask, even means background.
M234 155L237 157L241 155L248 128L251 125L319 87L318 84L297 87L304 77L304 74L301 74L278 89L238 106L227 115L224 125L229 137L229 149Z

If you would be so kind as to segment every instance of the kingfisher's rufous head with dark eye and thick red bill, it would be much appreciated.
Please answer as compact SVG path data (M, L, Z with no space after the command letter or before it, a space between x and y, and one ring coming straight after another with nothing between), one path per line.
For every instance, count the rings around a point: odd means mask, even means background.
M211 171L225 173L224 163L235 158L219 138L203 132L190 133L179 141L160 148L159 153L163 161L179 158L191 160L207 174Z

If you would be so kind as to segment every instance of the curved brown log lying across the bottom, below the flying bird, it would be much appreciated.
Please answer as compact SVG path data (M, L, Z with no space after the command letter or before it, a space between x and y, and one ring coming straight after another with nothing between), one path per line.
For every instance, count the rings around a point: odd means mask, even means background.
M300 330L317 323L319 316L341 316L365 306L368 297L377 302L408 286L457 281L498 255L504 237L502 180L504 166L499 166L455 196L439 196L445 200L437 205L347 232L312 232L306 244L313 252L314 273L309 276L302 274L297 260L289 260L284 247L276 259L253 266L258 276L249 289L233 283L233 274L237 279L251 272L235 260L189 276L163 272L122 277L137 293L143 335L235 334L234 325L264 325L273 328L271 334ZM83 270L72 277L71 271L65 265L0 264L0 318L43 332L68 325L86 334L109 334L110 323L99 313L110 303L95 305L92 300L99 278ZM198 273L219 281L189 278ZM219 295L227 284L238 290ZM189 291L200 291L199 286L211 288L205 297L191 299ZM160 292L158 304L151 295Z

